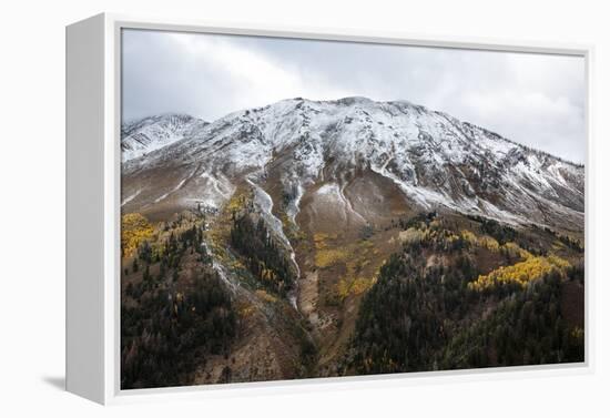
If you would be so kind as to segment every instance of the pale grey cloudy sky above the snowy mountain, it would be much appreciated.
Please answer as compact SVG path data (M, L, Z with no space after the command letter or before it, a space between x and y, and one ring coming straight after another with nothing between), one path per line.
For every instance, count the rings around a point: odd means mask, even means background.
M237 35L123 31L123 120L213 121L287 98L408 100L584 162L584 60Z

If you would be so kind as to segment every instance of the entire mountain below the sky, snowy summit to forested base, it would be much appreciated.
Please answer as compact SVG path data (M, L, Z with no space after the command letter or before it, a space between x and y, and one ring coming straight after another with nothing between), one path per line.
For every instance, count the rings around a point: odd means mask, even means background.
M365 98L122 131L122 388L583 359L581 165Z

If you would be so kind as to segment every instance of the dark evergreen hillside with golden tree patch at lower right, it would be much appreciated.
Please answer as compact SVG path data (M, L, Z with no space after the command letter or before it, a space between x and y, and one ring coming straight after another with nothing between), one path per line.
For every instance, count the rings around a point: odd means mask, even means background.
M408 232L401 251L363 299L347 369L583 361L583 323L566 314L583 307L580 251L563 248L572 265L497 222L477 218L475 231L498 239L458 232L434 214L419 218L401 223ZM578 306L566 306L563 294L575 290Z

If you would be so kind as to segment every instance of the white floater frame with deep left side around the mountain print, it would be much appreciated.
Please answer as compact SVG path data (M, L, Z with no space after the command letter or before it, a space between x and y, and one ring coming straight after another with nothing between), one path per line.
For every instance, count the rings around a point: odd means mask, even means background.
M159 389L120 389L120 33L122 29L266 35L315 40L443 47L583 57L587 86L586 361L578 365L316 378ZM224 26L173 19L98 14L67 28L67 390L100 404L164 398L322 391L329 388L419 385L437 380L590 374L594 369L590 173L591 60L584 44L488 41L339 29Z

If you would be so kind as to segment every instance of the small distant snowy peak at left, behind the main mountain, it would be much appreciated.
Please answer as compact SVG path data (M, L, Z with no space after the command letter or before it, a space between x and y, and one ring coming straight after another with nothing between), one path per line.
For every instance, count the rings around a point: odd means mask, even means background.
M144 118L121 126L122 161L142 156L151 151L184 139L194 129L207 124L187 114L162 114Z

